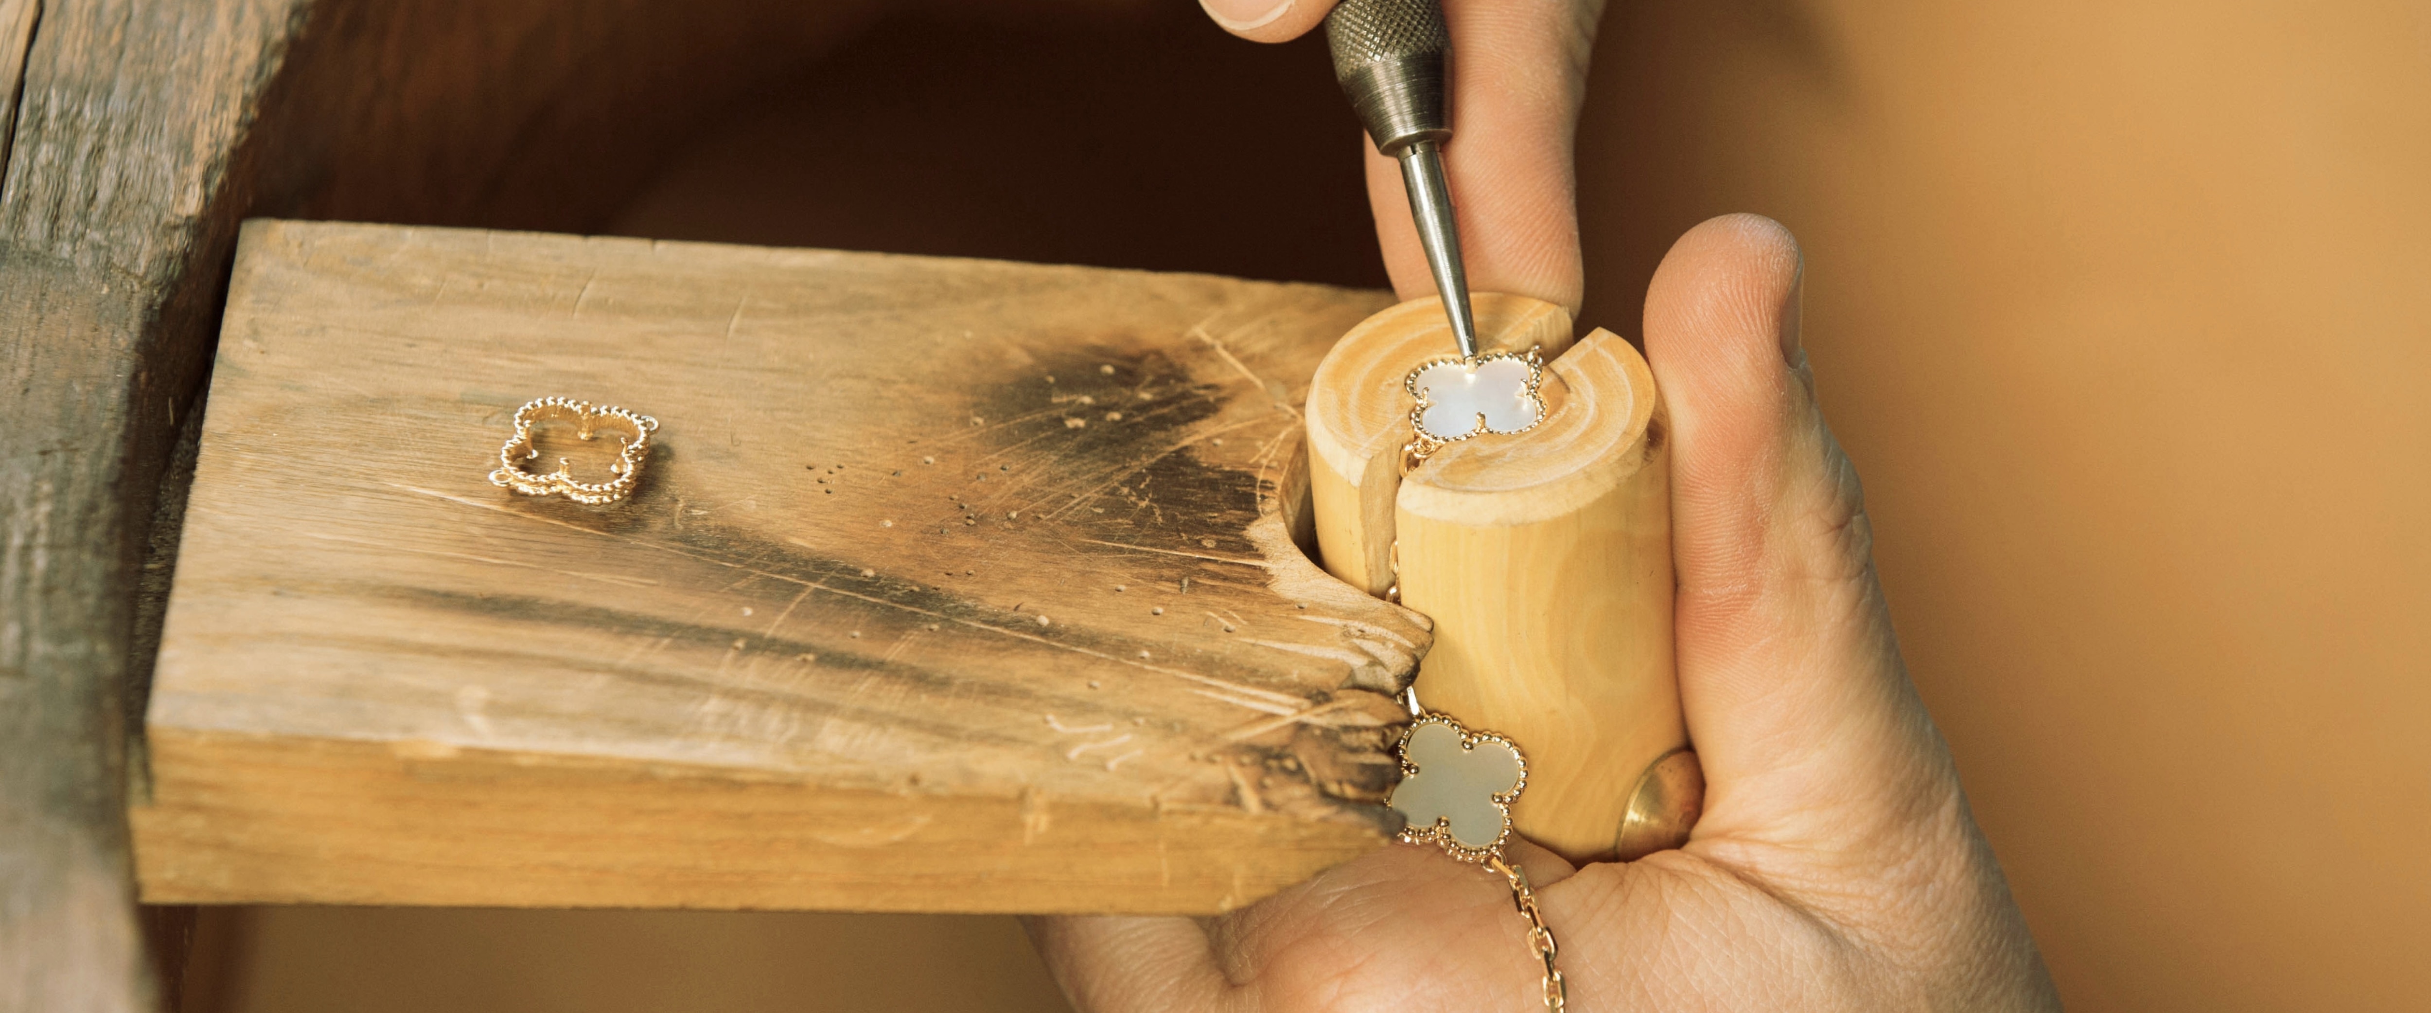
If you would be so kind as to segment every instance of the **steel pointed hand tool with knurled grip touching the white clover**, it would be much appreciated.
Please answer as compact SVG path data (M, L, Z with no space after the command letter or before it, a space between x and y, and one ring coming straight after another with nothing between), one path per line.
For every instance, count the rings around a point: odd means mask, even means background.
M1410 219L1427 248L1434 292L1444 296L1451 338L1461 343L1461 360L1476 360L1478 323L1468 313L1461 231L1451 221L1451 189L1444 185L1444 141L1451 138L1444 112L1451 32L1444 27L1444 7L1437 0L1342 0L1325 15L1325 44L1335 53L1335 80L1376 151L1400 160Z

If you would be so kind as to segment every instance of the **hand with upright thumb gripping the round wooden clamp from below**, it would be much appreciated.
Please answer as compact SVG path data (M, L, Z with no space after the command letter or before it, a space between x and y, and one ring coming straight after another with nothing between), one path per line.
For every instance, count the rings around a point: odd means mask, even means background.
M1211 0L1213 2L1213 0ZM1573 870L1519 843L1575 1011L2057 1011L1899 661L1857 474L1799 350L1799 250L1758 216L1646 296L1673 420L1687 848ZM1614 770L1626 785L1636 770ZM1084 1013L1529 1011L1500 877L1391 845L1223 918L1036 918Z

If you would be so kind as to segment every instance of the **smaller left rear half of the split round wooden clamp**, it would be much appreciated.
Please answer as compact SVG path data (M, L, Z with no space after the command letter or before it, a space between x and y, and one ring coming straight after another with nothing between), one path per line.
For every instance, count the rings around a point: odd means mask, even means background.
M1556 360L1570 347L1573 321L1556 304L1478 292L1471 309L1485 352L1534 347ZM1359 321L1308 384L1308 486L1315 527L1330 539L1325 571L1371 595L1393 583L1393 496L1410 442L1403 379L1454 347L1442 299L1412 299Z

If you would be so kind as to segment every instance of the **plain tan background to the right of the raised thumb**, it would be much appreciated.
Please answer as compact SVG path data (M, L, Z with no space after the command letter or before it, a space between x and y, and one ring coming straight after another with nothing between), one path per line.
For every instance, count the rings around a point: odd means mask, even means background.
M2431 7L1617 5L1597 313L1755 209L2079 1011L2431 996ZM1614 313L1619 316L1619 313Z

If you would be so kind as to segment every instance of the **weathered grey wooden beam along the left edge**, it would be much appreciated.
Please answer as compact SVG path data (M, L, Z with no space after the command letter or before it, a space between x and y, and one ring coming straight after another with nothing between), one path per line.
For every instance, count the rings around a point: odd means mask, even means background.
M134 576L202 367L199 202L282 27L44 7L0 189L0 1011L141 1011L160 989L122 802Z

